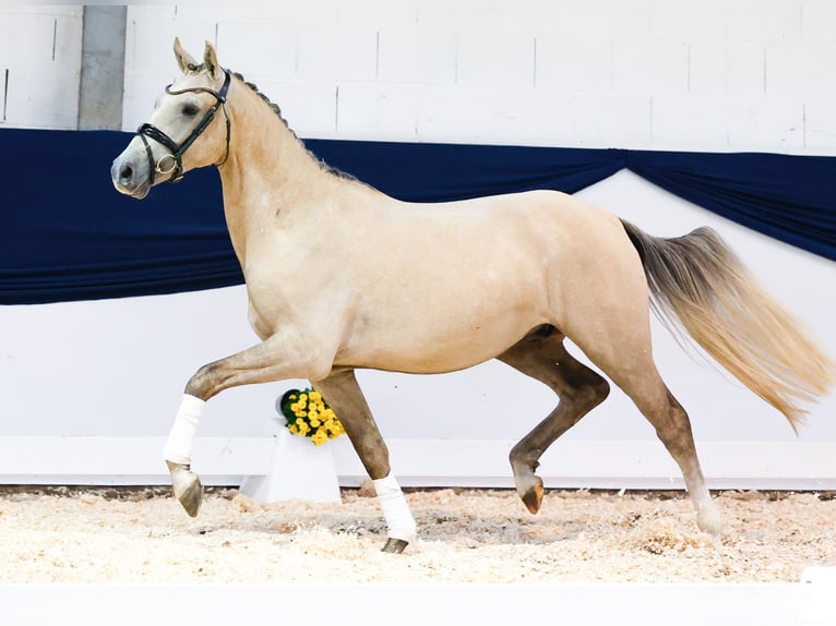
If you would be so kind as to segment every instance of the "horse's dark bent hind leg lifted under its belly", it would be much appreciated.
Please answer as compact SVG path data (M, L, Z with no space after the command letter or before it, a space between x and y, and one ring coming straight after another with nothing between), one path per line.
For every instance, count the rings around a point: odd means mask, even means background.
M498 357L551 387L559 398L554 410L510 454L516 491L530 513L537 513L542 501L542 480L535 474L539 458L609 394L607 381L576 361L563 346L563 338L554 327L541 327Z

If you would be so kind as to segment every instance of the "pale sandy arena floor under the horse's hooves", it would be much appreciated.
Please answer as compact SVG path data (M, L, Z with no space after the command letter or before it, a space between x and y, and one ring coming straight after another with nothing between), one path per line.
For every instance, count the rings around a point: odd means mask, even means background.
M380 552L365 489L342 504L260 504L207 491L190 518L170 490L0 487L0 583L798 582L836 565L836 494L721 492L719 544L672 493L408 491L419 538Z

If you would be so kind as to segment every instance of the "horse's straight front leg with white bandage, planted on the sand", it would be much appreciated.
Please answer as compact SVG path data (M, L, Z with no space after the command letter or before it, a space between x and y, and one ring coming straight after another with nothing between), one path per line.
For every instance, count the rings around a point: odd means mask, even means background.
M397 480L391 473L389 449L357 384L354 370L334 372L327 378L317 381L314 386L339 418L357 456L372 479L387 527L383 552L403 552L415 539L415 519Z

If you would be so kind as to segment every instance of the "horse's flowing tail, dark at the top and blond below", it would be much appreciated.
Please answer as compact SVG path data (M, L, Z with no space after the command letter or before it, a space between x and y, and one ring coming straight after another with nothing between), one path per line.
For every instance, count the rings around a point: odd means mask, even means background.
M679 339L684 328L718 363L789 420L827 394L836 366L710 228L674 239L621 220L642 258L653 310Z

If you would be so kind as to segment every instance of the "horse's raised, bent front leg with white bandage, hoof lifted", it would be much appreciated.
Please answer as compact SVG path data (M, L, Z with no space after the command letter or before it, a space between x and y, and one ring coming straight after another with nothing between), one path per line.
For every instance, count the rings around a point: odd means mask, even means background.
M177 499L194 517L203 501L203 485L191 471L192 444L206 400L229 387L285 378L317 378L331 370L327 354L294 349L292 337L274 335L247 350L202 366L186 385L180 409L166 440L164 456Z

